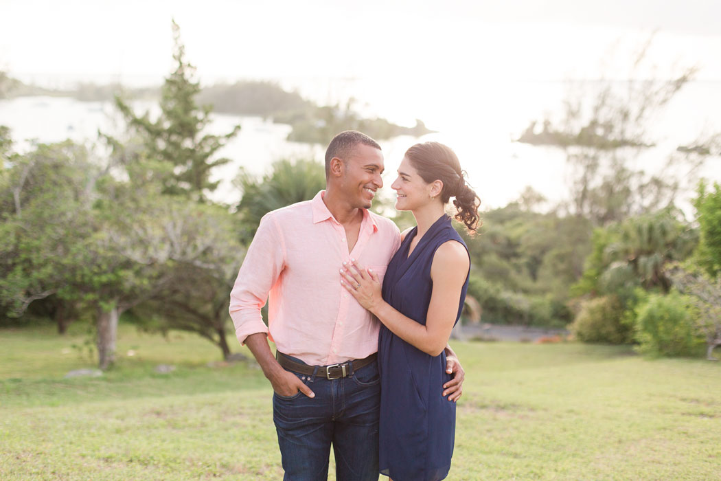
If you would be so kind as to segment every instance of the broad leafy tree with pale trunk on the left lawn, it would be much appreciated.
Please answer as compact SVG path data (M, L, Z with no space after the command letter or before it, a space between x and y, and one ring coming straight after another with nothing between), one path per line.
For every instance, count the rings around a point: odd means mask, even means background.
M242 254L224 208L162 195L146 175L129 176L132 182L108 170L69 141L41 144L14 157L0 189L2 301L15 316L41 299L56 304L58 317L76 307L89 312L102 369L114 361L123 312L162 296L178 299L179 291L205 312L195 282L215 273L229 278ZM226 317L213 318L216 337Z

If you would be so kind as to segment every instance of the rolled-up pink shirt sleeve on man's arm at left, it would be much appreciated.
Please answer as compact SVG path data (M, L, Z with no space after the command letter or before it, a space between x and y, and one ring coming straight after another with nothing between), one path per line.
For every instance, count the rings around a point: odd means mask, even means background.
M230 293L230 317L241 345L251 334L265 332L260 309L278 281L285 262L285 245L273 213L260 220Z

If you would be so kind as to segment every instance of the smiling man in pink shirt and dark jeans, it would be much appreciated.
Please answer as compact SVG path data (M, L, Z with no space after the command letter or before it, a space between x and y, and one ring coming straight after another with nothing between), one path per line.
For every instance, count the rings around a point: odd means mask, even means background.
M326 190L267 213L231 291L236 337L273 386L273 420L285 480L327 479L333 446L338 481L378 480L379 322L340 284L355 259L382 278L398 249L392 221L368 211L383 186L381 147L346 131L325 154ZM269 299L268 325L260 309ZM267 335L275 342L270 351ZM463 369L448 349L461 395Z

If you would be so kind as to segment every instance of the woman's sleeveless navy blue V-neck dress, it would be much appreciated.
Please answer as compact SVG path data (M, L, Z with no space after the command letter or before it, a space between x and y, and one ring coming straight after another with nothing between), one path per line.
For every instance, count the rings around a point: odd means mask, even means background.
M456 240L466 246L445 214L421 237L408 257L412 229L393 256L383 281L383 299L425 325L433 281L435 250ZM467 249L467 247L466 247ZM461 291L461 316L468 277ZM429 356L381 325L378 345L381 373L380 463L382 475L394 481L443 480L451 468L456 433L456 403L444 398L446 353Z

